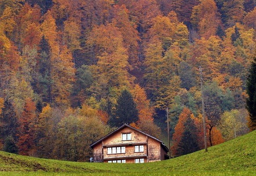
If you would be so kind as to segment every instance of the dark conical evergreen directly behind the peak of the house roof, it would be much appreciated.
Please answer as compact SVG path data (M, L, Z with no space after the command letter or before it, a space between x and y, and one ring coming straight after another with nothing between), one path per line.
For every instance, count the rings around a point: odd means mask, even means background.
M116 118L113 119L112 124L121 126L124 123L137 122L139 120L138 110L133 101L132 94L124 89L121 96L117 99Z

